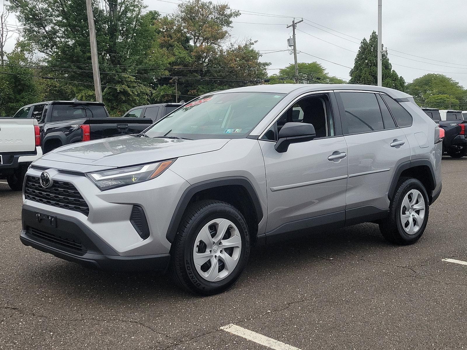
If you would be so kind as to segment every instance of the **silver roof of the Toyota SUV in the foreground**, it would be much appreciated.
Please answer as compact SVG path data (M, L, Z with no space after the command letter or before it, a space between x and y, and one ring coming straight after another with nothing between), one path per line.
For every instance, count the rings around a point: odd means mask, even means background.
M303 92L325 91L325 90L354 90L354 91L377 91L384 92L392 98L410 98L405 92L390 89L383 86L360 85L360 84L262 84L244 86L229 90L215 91L213 93L226 92L270 92L289 94L292 91L302 90ZM205 94L207 95L207 94Z

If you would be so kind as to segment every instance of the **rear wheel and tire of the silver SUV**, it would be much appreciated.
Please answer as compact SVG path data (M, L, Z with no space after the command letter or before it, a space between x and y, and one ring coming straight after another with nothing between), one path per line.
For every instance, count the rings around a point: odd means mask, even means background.
M422 207L423 211L415 209ZM390 243L413 244L422 237L428 214L429 200L423 184L417 179L403 177L397 182L396 191L389 204L389 216L380 221L379 228L383 237ZM404 220L405 224L402 223Z

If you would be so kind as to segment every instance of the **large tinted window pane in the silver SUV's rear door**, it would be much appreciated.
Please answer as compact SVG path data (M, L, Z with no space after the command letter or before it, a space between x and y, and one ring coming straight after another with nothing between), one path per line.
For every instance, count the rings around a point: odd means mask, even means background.
M374 93L340 92L345 109L347 133L383 130L382 115Z

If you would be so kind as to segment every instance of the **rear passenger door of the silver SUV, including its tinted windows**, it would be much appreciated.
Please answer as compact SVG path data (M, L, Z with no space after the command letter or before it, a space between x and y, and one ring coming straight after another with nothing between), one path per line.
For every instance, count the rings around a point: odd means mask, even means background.
M397 164L410 160L410 146L379 93L340 91L336 97L348 147L346 219L351 220L389 208L392 176Z

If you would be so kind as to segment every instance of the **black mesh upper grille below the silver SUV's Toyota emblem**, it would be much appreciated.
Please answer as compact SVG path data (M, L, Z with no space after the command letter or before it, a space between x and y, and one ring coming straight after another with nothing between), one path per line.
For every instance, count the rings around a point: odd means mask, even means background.
M48 189L42 187L39 178L27 176L24 186L24 196L34 202L52 205L89 215L89 206L85 199L70 182L54 180Z

